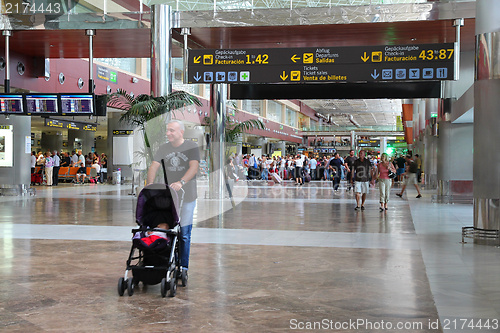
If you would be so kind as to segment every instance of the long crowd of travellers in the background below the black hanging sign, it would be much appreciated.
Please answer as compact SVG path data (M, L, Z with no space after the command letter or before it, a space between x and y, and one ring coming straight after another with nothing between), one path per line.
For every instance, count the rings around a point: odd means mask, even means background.
M335 193L339 191L341 180L347 182L347 191L356 193L355 210L365 209L366 194L370 187L378 182L380 191L380 211L388 209L389 193L394 183L401 183L401 191L396 195L402 197L409 184L417 190L417 198L421 198L418 183L421 181L422 160L419 155L400 154L390 158L386 153L379 158L367 155L364 150L356 156L354 150L341 157L339 153L325 156L307 157L304 154L287 156L255 156L246 154L233 156L229 161L231 171L229 177L247 180L271 180L272 174L280 179L293 181L302 186L311 180L332 181Z

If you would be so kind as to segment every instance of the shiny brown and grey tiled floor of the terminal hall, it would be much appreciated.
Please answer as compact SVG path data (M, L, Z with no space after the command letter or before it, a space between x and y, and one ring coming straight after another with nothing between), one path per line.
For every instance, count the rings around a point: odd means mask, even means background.
M480 319L500 331L500 250L460 243L472 206L393 189L379 212L372 190L355 212L352 192L330 183L239 182L232 209L206 191L175 298L159 285L117 294L135 226L130 186L0 197L0 331L467 332Z

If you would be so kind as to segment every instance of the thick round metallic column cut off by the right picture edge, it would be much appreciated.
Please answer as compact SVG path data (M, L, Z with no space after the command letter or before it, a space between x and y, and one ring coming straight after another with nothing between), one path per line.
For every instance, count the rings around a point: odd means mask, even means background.
M476 1L474 226L500 230L500 1ZM478 240L476 240L478 242Z

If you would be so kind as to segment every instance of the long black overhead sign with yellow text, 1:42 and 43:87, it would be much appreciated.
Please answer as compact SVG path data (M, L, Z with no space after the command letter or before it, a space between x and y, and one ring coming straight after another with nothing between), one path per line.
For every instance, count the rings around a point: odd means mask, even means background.
M454 60L453 43L190 50L187 83L453 80Z

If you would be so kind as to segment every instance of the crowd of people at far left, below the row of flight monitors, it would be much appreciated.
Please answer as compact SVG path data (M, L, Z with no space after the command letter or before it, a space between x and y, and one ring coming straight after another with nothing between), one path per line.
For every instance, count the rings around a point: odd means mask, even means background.
M59 169L61 167L78 167L75 184L83 184L87 175L87 167L96 170L98 181L104 182L107 173L108 158L102 153L88 153L83 155L81 150L70 152L41 151L31 152L31 174L36 173L45 176L45 185L57 186L59 184ZM38 167L38 171L36 172ZM32 177L32 185L34 185ZM41 182L40 182L41 183Z

